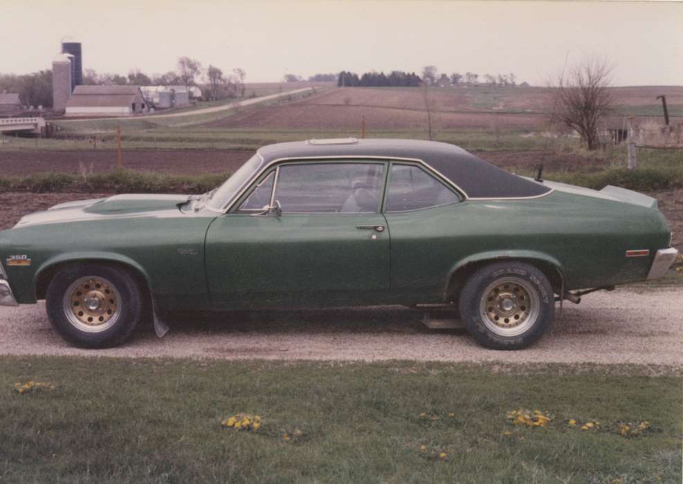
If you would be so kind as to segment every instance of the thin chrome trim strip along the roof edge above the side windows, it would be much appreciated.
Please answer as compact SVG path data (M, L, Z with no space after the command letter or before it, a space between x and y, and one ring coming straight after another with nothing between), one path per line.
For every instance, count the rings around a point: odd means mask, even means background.
M263 155L257 151L256 154L261 158L262 162L265 160ZM230 200L228 201L221 211L216 211L219 213L226 214L228 213L232 208L235 203L239 200L240 197L246 192L246 189L253 183L253 180L261 176L261 174L271 166L275 165L275 163L280 163L280 162L285 162L285 161L307 161L307 160L383 160L386 162L391 162L391 161L408 161L408 162L414 162L418 163L419 165L422 165L426 167L426 169L432 171L432 173L437 174L441 180L444 180L444 182L447 185L450 185L450 187L453 187L459 194L462 195L462 201L509 201L509 200L531 200L533 198L542 198L544 196L547 196L549 194L552 194L552 192L555 191L554 188L550 188L548 192L545 192L544 194L540 195L534 195L534 196L499 196L499 197L471 197L467 195L467 192L464 191L464 189L460 188L456 183L453 183L453 180L450 180L447 176L442 174L439 170L435 169L428 163L426 163L424 160L421 160L420 158L403 158L399 156L377 156L377 155L339 155L339 156L290 156L290 157L284 157L284 158L276 158L275 160L272 160L271 162L268 162L266 165L264 165L258 172L255 174L255 176L252 176L249 178L242 187L238 190L237 194ZM273 193L275 193L275 190L273 190Z

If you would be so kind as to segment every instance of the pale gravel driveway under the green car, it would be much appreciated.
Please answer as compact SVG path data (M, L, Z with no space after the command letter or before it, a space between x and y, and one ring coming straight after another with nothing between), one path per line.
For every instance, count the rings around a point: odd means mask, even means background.
M683 365L683 288L589 295L525 351L486 350L463 329L430 330L420 317L393 306L224 314L172 322L163 339L145 324L125 346L86 351L57 336L41 303L0 308L0 354Z

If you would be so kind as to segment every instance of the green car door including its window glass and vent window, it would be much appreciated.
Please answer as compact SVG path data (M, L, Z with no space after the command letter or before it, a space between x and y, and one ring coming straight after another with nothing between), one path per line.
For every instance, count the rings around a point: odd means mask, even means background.
M208 229L212 301L267 307L363 304L385 296L386 169L385 162L364 160L271 167Z

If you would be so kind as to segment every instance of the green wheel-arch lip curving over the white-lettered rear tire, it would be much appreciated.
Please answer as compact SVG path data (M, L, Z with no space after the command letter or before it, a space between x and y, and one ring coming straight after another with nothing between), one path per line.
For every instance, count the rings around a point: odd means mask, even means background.
M486 263L500 262L506 259L522 261L536 266L550 281L553 290L560 293L563 290L564 272L560 261L543 252L535 250L495 250L471 254L457 261L448 272L444 301L449 301L457 295L458 287L462 286L469 274Z

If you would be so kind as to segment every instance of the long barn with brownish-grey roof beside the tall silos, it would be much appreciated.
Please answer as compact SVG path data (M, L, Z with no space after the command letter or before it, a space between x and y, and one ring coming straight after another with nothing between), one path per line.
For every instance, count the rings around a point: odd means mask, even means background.
M138 86L76 86L67 116L130 116L147 113L149 102Z

